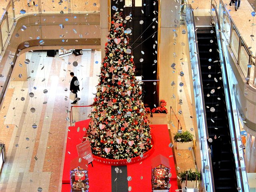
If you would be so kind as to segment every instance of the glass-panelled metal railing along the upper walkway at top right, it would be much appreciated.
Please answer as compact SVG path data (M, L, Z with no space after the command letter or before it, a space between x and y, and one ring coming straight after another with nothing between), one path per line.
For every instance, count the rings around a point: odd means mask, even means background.
M220 20L220 30L222 31L223 36L227 39L228 46L232 50L237 64L244 74L247 84L250 84L250 79L253 78L254 80L252 84L256 86L256 72L254 68L255 56L247 46L222 0L220 0L218 15Z

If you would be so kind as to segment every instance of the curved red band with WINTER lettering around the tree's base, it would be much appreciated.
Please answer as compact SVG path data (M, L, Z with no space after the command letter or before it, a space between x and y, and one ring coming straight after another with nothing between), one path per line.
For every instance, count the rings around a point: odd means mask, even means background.
M96 155L92 155L92 157L93 157L92 163L94 161L96 161L98 163L105 164L105 165L111 165L111 166L114 166L114 165L125 166L128 164L130 165L130 164L134 164L134 163L139 163L139 162L145 160L146 158L148 158L150 155L152 155L155 150L156 139L152 133L151 133L151 136L152 136L151 143L153 144L152 148L150 150L148 150L146 153L144 153L143 157L137 156L137 157L131 158L130 163L127 162L127 159L107 159L107 158L102 158L102 157L99 157Z

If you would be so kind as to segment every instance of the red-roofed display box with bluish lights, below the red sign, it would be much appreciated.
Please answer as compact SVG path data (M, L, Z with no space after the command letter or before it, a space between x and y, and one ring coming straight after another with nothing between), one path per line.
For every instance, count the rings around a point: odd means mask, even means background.
M88 161L84 158L75 158L70 162L71 192L88 192Z

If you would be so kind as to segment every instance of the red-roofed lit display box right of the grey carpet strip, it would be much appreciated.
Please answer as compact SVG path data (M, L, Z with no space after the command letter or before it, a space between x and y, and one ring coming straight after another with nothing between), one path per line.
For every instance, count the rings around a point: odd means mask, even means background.
M170 164L168 158L158 155L152 160L152 190L153 192L169 192Z

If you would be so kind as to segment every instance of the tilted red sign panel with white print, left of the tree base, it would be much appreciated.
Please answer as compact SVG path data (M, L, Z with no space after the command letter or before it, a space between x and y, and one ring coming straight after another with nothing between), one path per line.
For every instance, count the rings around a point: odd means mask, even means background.
M76 148L77 148L79 157L82 157L82 158L88 160L88 163L93 161L92 150L91 150L91 145L90 145L89 140L86 140L86 141L78 144L76 146Z

